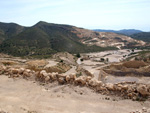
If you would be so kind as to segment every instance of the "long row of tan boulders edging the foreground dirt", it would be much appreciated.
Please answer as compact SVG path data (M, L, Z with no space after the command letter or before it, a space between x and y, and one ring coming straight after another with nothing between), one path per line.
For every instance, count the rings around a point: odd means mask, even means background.
M56 72L47 73L45 70L35 72L30 69L12 68L2 65L0 66L0 74L9 75L12 78L34 78L37 81L45 83L56 81L59 84L86 86L105 95L117 95L133 100L141 100L150 97L150 85L135 82L121 82L117 84L103 83L91 76L77 77L75 73L65 75Z

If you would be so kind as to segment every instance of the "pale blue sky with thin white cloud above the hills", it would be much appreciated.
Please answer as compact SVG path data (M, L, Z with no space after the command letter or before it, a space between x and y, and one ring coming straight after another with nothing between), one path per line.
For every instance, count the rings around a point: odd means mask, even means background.
M150 31L150 0L0 0L0 22Z

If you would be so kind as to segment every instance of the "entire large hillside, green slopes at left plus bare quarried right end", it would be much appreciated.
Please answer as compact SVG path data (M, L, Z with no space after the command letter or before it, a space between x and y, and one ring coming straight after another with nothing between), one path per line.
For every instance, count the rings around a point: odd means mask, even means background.
M94 32L69 25L38 22L32 27L0 23L0 52L15 56L95 52L145 42L116 33Z

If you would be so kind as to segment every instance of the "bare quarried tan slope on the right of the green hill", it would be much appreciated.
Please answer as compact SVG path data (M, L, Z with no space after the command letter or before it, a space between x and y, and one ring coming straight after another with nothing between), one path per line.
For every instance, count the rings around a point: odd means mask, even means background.
M132 39L129 36L116 34L112 32L93 32L86 29L74 27L74 33L80 37L83 44L97 45L101 47L135 47L145 45L144 41Z

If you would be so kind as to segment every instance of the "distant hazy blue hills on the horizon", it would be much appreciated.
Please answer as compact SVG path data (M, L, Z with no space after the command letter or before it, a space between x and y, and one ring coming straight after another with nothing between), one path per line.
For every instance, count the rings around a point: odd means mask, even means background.
M141 30L136 30L136 29L122 29L119 31L115 31L115 30L103 30L103 29L94 29L94 31L98 31L98 32L113 32L113 33L119 33L119 34L124 34L124 35L132 35L132 34L136 34L136 33L141 33L143 31Z

